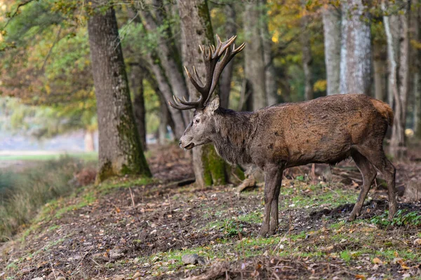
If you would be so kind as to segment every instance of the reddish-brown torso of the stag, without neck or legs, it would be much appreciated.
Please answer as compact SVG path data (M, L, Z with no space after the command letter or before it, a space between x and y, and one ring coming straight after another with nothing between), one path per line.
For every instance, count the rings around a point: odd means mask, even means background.
M287 166L336 163L364 141L382 144L387 120L364 94L338 94L255 112L252 158ZM260 149L260 151L259 151Z

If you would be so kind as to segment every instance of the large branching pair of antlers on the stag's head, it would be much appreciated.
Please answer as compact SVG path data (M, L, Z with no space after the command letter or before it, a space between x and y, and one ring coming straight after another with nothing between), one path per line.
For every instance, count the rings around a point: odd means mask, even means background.
M187 100L181 100L178 97L173 97L174 104L168 103L173 106L175 109L179 110L189 110L189 109L203 109L209 101L209 98L212 96L213 90L215 90L216 85L218 84L218 79L224 70L225 66L231 61L237 53L241 52L246 46L245 43L242 43L238 48L235 48L234 41L236 36L232 36L225 42L221 42L218 34L216 35L217 45L216 48L214 45L209 45L206 48L205 45L199 45L199 48L202 52L203 62L206 68L206 81L203 83L199 78L199 74L196 71L196 68L193 66L193 72L196 76L196 79L193 78L192 74L185 67L185 71L190 81L196 87L196 90L201 94L201 97L196 102L187 102ZM232 45L232 48L231 48ZM222 57L223 55L223 57ZM220 59L222 57L222 59Z

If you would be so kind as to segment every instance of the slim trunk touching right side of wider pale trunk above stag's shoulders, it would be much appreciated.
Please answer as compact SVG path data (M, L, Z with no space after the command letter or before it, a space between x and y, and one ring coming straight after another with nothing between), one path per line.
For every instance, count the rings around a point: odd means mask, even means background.
M263 46L263 59L265 59L265 86L266 86L266 99L267 105L274 105L279 103L278 87L276 86L276 69L272 57L272 35L269 33L269 16L267 15L267 0L262 0L264 14L262 18L262 46Z

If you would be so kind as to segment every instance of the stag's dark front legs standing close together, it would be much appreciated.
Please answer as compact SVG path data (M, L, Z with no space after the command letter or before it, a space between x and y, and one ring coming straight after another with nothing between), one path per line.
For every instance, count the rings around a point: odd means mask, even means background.
M274 234L274 232L278 228L277 197L279 197L280 188L277 187L281 186L281 179L282 169L279 169L279 167L265 169L265 217L263 218L262 228L260 228L259 235L261 237L266 237L267 233L269 232L269 222L271 222L269 235Z

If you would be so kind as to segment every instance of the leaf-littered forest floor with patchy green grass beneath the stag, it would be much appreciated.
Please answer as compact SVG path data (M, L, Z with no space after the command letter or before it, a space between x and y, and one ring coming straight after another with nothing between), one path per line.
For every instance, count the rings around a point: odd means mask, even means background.
M262 187L238 195L233 185L185 185L193 174L178 148L148 161L153 180L123 178L46 204L1 244L0 278L421 279L421 204L399 197L389 222L379 183L347 223L361 186L353 162L333 167L330 183L323 165L316 181L309 167L287 172L279 230L260 238ZM421 181L420 162L395 165L398 187Z

